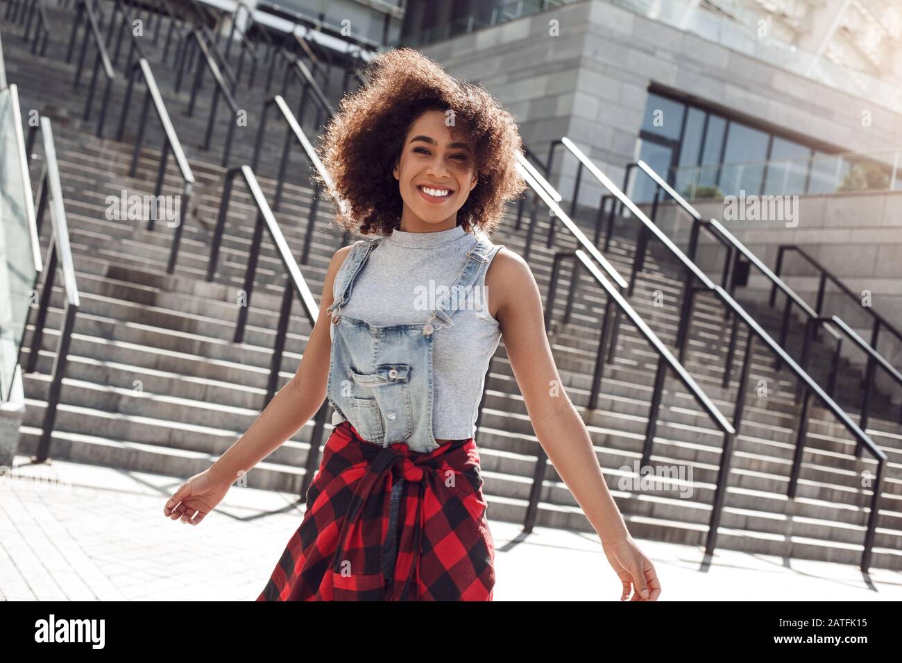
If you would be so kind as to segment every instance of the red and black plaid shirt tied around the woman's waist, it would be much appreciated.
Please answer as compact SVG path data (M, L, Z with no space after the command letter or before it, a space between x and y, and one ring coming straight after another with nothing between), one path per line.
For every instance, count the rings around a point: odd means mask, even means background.
M333 429L307 511L258 601L491 601L475 441L425 453Z

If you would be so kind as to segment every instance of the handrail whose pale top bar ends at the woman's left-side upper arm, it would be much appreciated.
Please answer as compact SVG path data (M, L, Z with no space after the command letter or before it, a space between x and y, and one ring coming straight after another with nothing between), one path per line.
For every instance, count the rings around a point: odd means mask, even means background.
M213 277L216 273L219 247L222 244L223 234L226 230L229 199L232 196L235 177L238 175L241 175L244 178L247 189L251 192L253 203L255 207L257 207L257 217L253 226L253 241L248 253L247 268L244 272L245 299L244 305L239 308L238 311L238 320L235 325L235 343L244 342L244 329L247 325L248 309L251 306L253 281L257 271L257 261L260 256L260 244L262 242L264 228L270 235L270 239L272 240L272 244L275 245L276 251L279 253L279 257L287 272L287 278L289 280L289 282L285 284L284 290L282 290L279 327L276 329L275 345L272 349L272 361L270 363L270 375L267 381L266 396L263 403L263 406L265 407L272 401L272 397L275 395L276 387L278 386L281 358L285 350L286 336L288 335L292 299L294 296L298 297L304 308L304 313L307 315L311 328L317 323L317 319L319 318L319 308L316 299L313 297L313 293L308 288L307 281L304 280L303 274L300 272L298 262L291 254L288 242L285 241L285 236L282 235L279 223L272 214L269 203L266 202L266 197L263 195L260 184L253 174L253 169L247 165L233 168L226 173L226 181L223 186L223 198L219 206L219 216L216 219L216 232L213 237L213 244L210 248L210 261L207 266L207 281L213 281ZM325 428L327 409L328 401L324 401L318 410L314 421L313 433L310 437L310 450L308 451L307 457L307 473L304 476L304 481L300 490L301 499L305 497L308 485L317 469L319 447L322 442L323 430Z

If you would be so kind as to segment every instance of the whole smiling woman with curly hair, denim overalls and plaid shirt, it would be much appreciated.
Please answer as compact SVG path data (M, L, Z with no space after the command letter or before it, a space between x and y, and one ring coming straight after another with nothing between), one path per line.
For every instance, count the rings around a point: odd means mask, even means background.
M632 600L657 599L654 567L559 387L529 265L489 239L526 189L513 117L417 51L386 51L366 73L370 84L345 97L320 147L336 223L364 238L329 263L294 378L164 512L206 513L223 483L297 432L325 397L332 433L307 511L258 601L491 601L475 421L503 336L538 441L602 537L621 598L632 586ZM186 498L189 511L176 506Z

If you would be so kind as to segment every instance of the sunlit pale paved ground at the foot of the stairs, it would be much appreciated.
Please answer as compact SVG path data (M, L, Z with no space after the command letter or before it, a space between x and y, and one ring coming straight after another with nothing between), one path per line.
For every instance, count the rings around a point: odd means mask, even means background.
M16 456L0 476L0 599L250 601L297 529L295 495L235 486L198 526L163 516L183 481ZM2 473L0 473L2 474ZM18 477L43 477L23 481ZM52 481L51 481L52 480ZM598 538L491 521L497 601L611 600ZM902 600L902 573L641 541L667 600Z

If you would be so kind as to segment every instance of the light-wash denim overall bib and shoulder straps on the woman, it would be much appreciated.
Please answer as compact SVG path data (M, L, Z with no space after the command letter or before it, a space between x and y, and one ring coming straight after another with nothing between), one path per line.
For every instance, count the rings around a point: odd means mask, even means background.
M347 269L342 271L335 301L327 308L332 316L327 383L327 398L336 410L332 423L346 419L360 437L382 447L404 442L411 450L428 452L439 447L432 435L435 335L452 324L457 308L463 308L467 293L502 246L474 235L463 268L427 322L375 327L342 315L341 307L382 239L354 244L345 258Z

